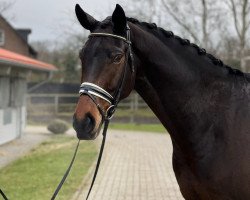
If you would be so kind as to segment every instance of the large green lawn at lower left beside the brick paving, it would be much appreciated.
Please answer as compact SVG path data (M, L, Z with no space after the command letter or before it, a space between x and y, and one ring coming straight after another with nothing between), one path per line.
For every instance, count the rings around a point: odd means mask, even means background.
M50 199L71 161L76 143L74 137L52 136L25 157L1 169L0 188L11 200ZM97 148L93 142L81 141L75 163L58 199L70 199L96 155Z

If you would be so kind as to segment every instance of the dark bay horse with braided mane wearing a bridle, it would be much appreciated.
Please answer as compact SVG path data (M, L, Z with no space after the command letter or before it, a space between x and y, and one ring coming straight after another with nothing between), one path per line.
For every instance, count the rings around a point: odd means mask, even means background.
M155 24L127 18L119 5L101 22L79 5L76 15L91 32L80 51L78 138L95 139L113 100L135 89L171 136L185 199L250 199L249 74Z

